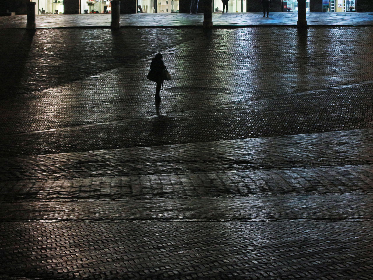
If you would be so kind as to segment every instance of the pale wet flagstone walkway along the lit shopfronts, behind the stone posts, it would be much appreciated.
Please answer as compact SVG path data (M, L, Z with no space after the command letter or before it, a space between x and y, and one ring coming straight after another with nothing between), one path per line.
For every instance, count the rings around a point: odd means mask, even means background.
M307 13L307 25L323 26L372 26L373 12L367 13ZM26 15L0 17L1 28L25 28ZM263 13L212 13L213 25L222 27L250 26L297 26L298 13L270 12L269 18L263 18ZM81 15L37 15L38 28L65 27L110 27L110 14ZM122 27L175 27L202 26L203 13L195 15L188 13L137 13L120 15Z

